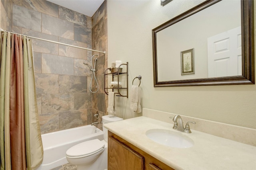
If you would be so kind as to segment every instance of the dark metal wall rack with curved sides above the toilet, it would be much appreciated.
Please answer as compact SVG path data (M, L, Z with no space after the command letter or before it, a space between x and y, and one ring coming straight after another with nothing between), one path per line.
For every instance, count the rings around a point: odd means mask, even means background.
M122 65L126 65L126 72L119 72L119 68ZM107 89L112 89L112 92L114 92L114 89L117 89L117 92L115 92L115 94L117 94L116 96L122 96L122 97L126 97L128 98L128 62L126 62L126 64L120 64L120 66L118 67L118 71L117 72L108 72L111 71L111 68L107 68L104 72L104 92L108 95L108 92L106 91ZM119 82L119 76L121 74L126 74L126 87L119 87L119 83L117 84L116 88L109 88L108 86L106 87L106 83L108 84L108 82L106 82L106 76L112 76L112 81L114 81L114 77L117 76L117 82ZM120 90L121 89L126 89L126 95L122 95Z

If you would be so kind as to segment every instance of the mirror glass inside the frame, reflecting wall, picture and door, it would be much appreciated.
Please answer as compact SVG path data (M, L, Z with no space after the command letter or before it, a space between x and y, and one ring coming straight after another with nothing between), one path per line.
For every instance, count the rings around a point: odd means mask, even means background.
M222 0L156 37L158 82L242 75L239 0Z

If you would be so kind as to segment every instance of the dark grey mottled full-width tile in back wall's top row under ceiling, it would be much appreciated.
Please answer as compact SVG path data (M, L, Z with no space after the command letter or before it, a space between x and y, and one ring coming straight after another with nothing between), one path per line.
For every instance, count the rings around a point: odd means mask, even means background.
M59 18L78 25L87 26L87 17L85 15L62 6L59 6Z

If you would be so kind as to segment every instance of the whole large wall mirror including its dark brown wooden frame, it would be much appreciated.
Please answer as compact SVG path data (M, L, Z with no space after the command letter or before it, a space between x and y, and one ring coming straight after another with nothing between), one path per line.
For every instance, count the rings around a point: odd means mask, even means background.
M253 0L206 0L152 42L154 87L254 84Z

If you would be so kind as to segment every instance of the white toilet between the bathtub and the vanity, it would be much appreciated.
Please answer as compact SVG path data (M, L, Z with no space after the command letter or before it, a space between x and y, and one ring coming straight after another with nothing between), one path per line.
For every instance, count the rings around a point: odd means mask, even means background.
M102 123L123 120L113 115L102 116ZM79 143L66 151L66 158L70 164L77 166L77 170L105 170L108 168L108 131L103 127L104 140L93 139Z

